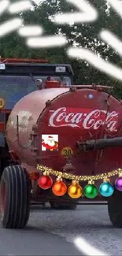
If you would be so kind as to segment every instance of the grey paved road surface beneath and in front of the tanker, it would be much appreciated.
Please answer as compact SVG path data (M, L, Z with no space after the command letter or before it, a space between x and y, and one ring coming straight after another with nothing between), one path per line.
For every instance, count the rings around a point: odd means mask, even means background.
M0 228L0 255L83 255L74 245L77 236L105 254L122 255L122 229L109 222L107 206L62 211L33 206L26 229Z

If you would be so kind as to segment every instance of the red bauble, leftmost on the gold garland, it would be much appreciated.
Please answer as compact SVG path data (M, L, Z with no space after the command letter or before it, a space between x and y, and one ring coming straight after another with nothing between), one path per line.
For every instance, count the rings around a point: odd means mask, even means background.
M39 178L38 184L43 189L49 189L53 185L53 180L50 176L43 175Z

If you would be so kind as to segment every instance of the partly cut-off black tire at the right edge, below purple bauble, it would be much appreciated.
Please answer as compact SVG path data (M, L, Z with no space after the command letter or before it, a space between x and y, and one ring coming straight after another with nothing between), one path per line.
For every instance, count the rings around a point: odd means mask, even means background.
M108 212L113 226L122 228L122 192L116 188L113 195L108 198Z

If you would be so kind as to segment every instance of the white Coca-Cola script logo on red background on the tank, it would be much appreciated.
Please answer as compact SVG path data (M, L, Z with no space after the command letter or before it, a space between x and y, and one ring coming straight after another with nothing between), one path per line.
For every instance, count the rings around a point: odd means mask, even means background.
M116 111L107 112L100 109L72 109L61 107L50 110L49 125L52 127L70 126L72 128L97 130L102 125L110 132L117 131L118 115Z

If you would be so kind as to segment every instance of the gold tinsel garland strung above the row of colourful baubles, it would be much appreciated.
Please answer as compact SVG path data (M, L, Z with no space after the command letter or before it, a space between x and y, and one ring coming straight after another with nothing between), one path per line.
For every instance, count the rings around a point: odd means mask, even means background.
M113 170L113 172L109 172L109 173L102 173L102 174L97 174L95 176L76 176L74 174L70 174L70 173L62 173L62 172L58 172L54 169L51 169L49 167L46 167L44 165L37 165L37 169L43 173L45 173L46 175L50 175L52 174L53 176L60 176L63 179L67 179L67 180L77 180L77 181L90 181L90 180L103 180L105 178L109 178L111 176L122 176L122 169L116 169Z

